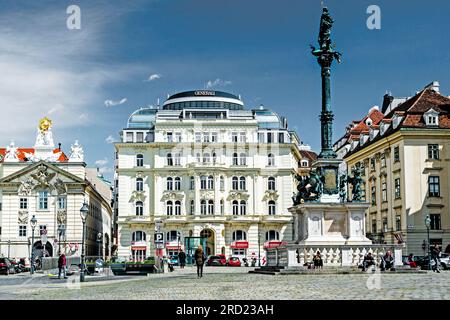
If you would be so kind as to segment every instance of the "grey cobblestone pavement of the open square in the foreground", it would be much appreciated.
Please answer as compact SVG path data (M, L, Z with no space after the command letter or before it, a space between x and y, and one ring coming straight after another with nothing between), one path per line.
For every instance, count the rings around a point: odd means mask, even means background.
M261 275L250 268L194 268L173 273L108 277L81 286L76 277L2 285L0 299L450 299L450 271L427 274Z

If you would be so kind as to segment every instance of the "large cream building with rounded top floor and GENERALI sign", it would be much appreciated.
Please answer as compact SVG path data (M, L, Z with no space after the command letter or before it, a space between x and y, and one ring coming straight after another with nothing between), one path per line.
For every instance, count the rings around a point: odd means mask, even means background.
M292 239L294 175L301 158L285 118L240 97L200 90L134 112L116 148L118 255L165 254L205 239L208 255L260 257Z

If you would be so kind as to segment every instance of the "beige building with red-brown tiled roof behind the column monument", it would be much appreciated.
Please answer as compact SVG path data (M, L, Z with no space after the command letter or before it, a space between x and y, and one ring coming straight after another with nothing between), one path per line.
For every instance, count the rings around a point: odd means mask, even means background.
M430 244L448 252L450 98L433 82L410 98L385 96L382 111L372 108L335 143L349 173L363 169L367 235L426 254L428 215Z

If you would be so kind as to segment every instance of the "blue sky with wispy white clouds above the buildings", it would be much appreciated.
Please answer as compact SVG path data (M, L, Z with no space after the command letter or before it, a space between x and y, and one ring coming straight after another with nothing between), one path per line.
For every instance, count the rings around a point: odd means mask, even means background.
M332 69L334 140L383 95L412 96L437 80L450 95L448 0L0 0L0 146L32 147L39 119L55 143L79 140L109 179L113 142L139 107L168 94L214 89L246 108L287 117L320 151L322 4L342 53ZM81 29L67 28L71 5ZM370 5L380 29L367 27Z

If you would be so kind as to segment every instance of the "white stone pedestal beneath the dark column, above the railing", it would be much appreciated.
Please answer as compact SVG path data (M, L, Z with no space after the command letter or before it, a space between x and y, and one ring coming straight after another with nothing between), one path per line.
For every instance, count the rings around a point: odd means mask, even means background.
M308 202L292 207L295 243L301 245L367 245L368 203Z

